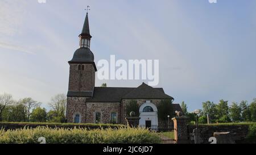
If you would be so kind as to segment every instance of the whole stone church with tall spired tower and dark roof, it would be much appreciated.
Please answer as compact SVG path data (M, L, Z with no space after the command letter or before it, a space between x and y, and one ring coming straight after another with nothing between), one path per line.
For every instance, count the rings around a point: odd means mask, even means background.
M80 48L68 61L69 85L67 94L68 123L118 123L125 124L126 106L136 101L139 105L140 125L158 125L158 104L170 100L174 111L181 111L179 104L173 104L171 96L163 88L154 88L142 83L138 87L95 87L93 52L90 51L88 14L79 35ZM175 114L175 112L173 113Z

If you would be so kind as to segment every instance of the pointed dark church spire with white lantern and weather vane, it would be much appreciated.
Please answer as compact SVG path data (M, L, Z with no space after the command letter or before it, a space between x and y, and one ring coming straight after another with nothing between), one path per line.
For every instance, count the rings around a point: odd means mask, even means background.
M86 16L84 20L84 26L82 27L82 32L79 35L80 37L80 48L89 48L90 49L90 39L92 36L90 36L90 30L89 30L89 20L88 20L88 10L89 6L87 6Z

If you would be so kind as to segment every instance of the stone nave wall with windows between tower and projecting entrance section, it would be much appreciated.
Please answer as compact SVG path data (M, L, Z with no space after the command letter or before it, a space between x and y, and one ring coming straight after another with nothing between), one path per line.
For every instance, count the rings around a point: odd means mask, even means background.
M86 103L86 123L95 123L95 113L101 113L101 123L110 123L111 113L117 113L117 123L120 123L120 103L119 102L88 102Z

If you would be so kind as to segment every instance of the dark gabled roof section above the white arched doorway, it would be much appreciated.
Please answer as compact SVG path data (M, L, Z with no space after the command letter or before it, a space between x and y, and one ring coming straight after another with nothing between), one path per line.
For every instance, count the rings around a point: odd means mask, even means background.
M146 83L142 83L141 86L138 86L136 89L130 93L123 96L123 99L174 99L169 95L165 94L163 89L155 89L151 86L148 86Z

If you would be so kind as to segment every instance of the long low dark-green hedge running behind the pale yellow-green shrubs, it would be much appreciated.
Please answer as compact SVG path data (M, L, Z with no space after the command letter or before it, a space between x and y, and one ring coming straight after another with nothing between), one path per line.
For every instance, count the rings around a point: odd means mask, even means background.
M91 123L31 123L31 122L0 122L0 129L18 129L18 128L36 128L36 127L49 127L49 128L87 128L87 129L98 129L98 128L119 128L125 127L122 124L91 124Z

